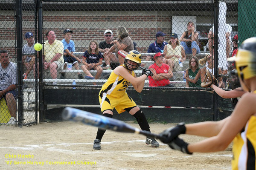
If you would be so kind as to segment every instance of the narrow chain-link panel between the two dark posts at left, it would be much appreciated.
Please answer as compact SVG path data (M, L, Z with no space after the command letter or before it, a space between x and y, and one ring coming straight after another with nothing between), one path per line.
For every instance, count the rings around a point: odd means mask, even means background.
M23 39L23 125L38 122L38 84L29 83L35 78L34 66L37 63L37 53L34 45L38 41L37 31L37 1L22 0L22 39Z

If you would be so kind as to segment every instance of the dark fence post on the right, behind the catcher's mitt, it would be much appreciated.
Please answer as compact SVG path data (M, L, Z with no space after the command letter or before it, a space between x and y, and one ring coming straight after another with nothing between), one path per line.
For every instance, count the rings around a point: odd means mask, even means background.
M214 75L218 79L218 0L214 0ZM218 118L218 94L213 94L213 121Z

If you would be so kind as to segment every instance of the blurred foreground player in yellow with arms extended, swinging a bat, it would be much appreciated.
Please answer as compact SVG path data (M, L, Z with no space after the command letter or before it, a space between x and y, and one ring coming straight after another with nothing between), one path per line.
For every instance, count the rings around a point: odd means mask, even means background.
M236 104L233 113L221 121L178 124L163 133L163 143L183 153L208 153L225 150L233 141L233 170L256 170L256 37L244 40L235 60L241 87L247 93ZM209 137L188 144L180 134Z

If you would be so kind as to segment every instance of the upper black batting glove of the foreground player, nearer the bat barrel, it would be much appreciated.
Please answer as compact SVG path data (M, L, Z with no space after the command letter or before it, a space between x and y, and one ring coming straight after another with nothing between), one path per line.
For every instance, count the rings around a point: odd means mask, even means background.
M162 135L164 138L161 141L165 144L169 144L178 135L185 134L185 133L186 133L185 123L179 123L175 127L170 127L169 129L166 129L162 133L160 133L160 135Z

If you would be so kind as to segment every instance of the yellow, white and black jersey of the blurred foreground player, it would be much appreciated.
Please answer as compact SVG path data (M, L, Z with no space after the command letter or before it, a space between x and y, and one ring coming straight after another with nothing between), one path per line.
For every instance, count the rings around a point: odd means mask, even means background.
M254 91L253 93L256 93ZM256 116L252 115L244 130L233 140L232 170L256 170Z

